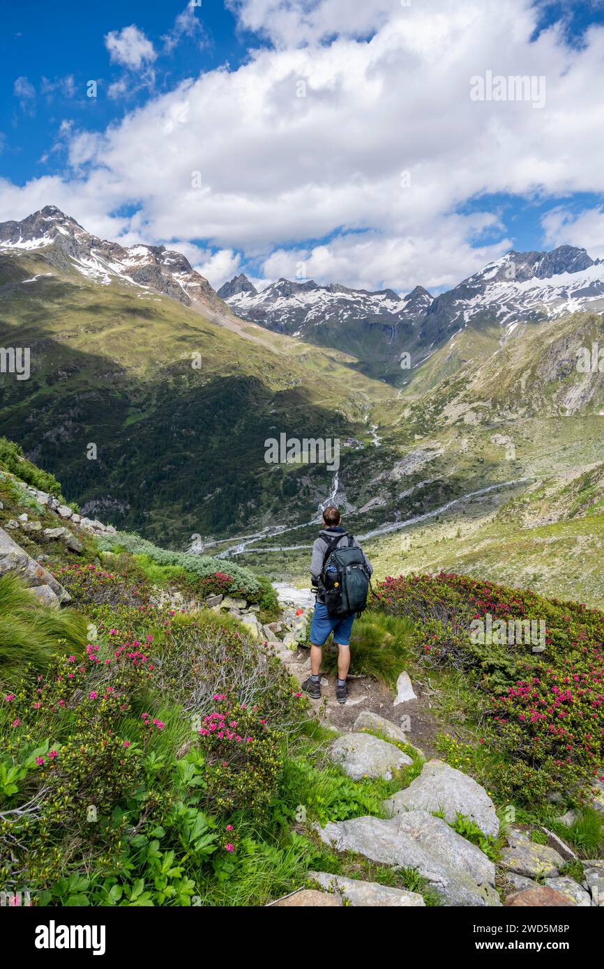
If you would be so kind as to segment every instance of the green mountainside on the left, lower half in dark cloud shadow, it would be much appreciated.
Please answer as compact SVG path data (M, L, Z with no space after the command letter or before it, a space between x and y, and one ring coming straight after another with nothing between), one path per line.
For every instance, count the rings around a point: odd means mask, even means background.
M284 500L290 515L314 512L333 475L268 465L265 440L368 439L370 403L392 395L351 379L343 354L242 325L226 308L101 286L40 254L0 257L0 342L29 347L32 370L0 377L0 431L58 473L84 512L177 547L262 522Z

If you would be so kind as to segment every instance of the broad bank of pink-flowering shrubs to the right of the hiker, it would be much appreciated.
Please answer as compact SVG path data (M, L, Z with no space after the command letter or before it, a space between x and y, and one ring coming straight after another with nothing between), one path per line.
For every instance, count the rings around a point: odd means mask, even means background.
M425 664L467 671L485 691L502 793L534 802L602 777L604 612L444 573L387 578L377 594L383 610L416 622ZM545 652L472 642L470 624L488 614L543 620Z

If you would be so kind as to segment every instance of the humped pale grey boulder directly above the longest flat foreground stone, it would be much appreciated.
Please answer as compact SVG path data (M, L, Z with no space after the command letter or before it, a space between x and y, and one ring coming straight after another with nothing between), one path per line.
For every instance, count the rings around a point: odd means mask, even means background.
M401 811L426 810L444 812L445 820L453 824L457 814L473 821L484 834L496 837L499 831L493 801L473 777L443 761L429 761L422 773L404 791L384 801L390 814Z

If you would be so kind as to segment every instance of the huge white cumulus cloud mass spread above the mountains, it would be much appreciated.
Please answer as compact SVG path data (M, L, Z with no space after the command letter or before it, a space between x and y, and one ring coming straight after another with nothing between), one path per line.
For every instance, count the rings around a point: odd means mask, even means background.
M534 41L529 0L232 7L265 46L153 96L102 137L74 132L78 176L43 204L67 195L79 222L110 237L198 243L195 265L217 282L243 260L266 279L302 261L318 281L400 291L456 283L513 244L492 195L604 192L601 27L581 47L556 25ZM470 79L488 71L546 78L545 107L472 101ZM36 182L4 189L2 208L7 191L22 214L40 196ZM126 203L142 215L112 221ZM558 235L572 229L558 220Z

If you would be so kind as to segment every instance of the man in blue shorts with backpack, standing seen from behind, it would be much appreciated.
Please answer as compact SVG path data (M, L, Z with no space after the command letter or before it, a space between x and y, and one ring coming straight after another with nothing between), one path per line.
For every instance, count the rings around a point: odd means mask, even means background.
M323 523L325 528L312 547L310 561L316 605L310 625L310 676L302 683L302 690L311 700L320 700L321 647L334 633L338 650L335 698L346 703L352 624L355 615L366 608L373 569L363 548L340 525L340 514L333 505L323 512Z

